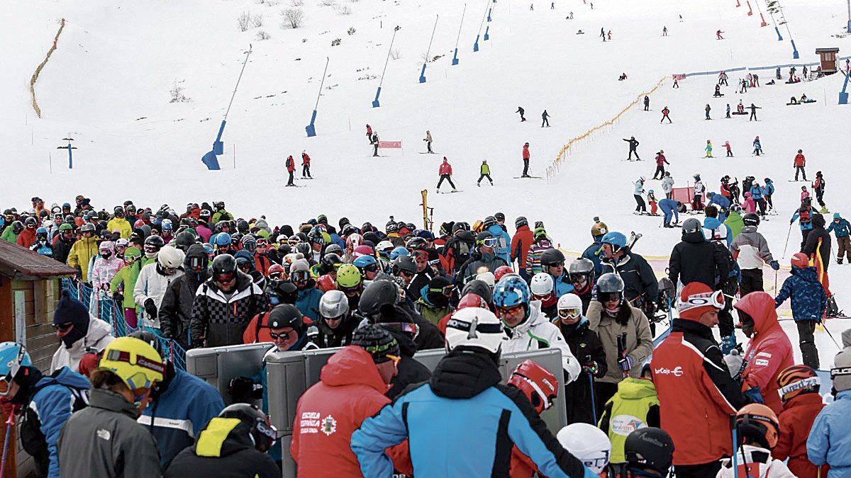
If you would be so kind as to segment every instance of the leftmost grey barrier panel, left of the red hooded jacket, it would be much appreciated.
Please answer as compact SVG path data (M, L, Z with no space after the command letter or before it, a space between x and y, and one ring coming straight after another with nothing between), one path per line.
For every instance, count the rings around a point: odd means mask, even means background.
M251 377L260 372L263 356L272 344L240 344L186 351L186 372L203 378L231 404L227 384L234 377ZM260 405L258 401L257 405Z

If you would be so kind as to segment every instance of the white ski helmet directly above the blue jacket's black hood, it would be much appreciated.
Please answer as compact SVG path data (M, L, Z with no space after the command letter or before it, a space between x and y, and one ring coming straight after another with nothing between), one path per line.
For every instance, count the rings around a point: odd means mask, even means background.
M446 324L446 349L461 345L497 353L505 337L502 321L490 310L466 307L456 311Z

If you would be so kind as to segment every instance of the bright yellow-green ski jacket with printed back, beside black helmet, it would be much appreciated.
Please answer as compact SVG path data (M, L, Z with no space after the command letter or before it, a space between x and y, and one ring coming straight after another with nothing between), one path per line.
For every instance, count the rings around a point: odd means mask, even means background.
M606 402L600 429L612 442L610 462L625 462L626 436L644 427L659 427L659 396L653 380L627 377L618 384L618 391Z

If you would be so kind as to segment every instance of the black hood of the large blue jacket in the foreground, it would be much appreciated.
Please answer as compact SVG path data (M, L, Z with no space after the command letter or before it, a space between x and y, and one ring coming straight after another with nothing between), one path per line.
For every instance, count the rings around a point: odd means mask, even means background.
M502 381L488 354L460 347L443 357L429 378L431 391L445 398L472 398Z

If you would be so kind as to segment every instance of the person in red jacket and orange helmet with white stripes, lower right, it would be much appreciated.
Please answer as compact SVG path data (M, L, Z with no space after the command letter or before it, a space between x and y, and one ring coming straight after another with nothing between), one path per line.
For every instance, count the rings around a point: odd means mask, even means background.
M783 411L777 417L780 438L771 456L779 460L789 458L789 470L798 478L827 476L826 466L817 467L807 458L809 431L816 415L825 407L819 395L819 376L806 365L793 365L780 372L777 384Z

